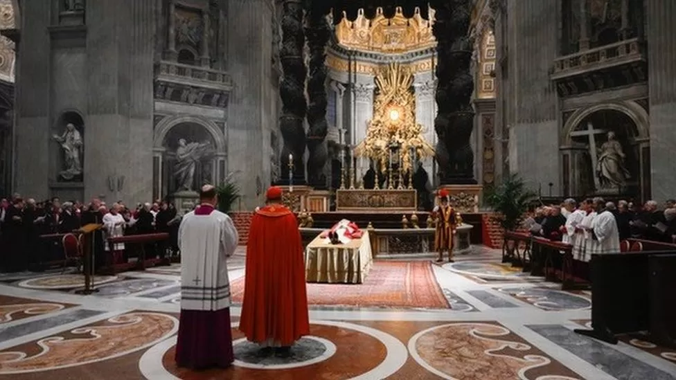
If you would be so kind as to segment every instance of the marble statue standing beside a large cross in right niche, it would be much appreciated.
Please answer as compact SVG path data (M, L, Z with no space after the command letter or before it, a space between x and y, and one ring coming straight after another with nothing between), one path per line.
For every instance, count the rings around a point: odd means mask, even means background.
M614 132L608 132L608 140L598 150L598 163L596 175L601 183L601 188L621 188L627 184L631 174L625 165L626 156L622 145L615 138Z

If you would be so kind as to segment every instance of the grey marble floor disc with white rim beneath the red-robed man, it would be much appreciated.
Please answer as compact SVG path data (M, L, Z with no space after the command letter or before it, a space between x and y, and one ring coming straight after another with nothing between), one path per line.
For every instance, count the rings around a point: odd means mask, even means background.
M304 367L325 361L337 350L335 344L319 336L304 336L291 347L291 357L284 359L276 356L258 356L260 346L247 341L247 338L234 341L233 349L235 350L234 365L256 370L286 370Z

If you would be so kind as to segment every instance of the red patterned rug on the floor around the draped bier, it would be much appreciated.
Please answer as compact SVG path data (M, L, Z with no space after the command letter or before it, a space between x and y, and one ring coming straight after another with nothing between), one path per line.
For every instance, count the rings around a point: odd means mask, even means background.
M231 283L242 302L244 278ZM310 305L449 309L430 262L376 261L363 284L308 284Z

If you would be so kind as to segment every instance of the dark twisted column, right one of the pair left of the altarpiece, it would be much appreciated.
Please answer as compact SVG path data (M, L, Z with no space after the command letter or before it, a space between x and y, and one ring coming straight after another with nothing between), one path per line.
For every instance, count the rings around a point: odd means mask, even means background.
M321 8L320 8L321 7ZM310 48L310 78L308 80L308 183L314 188L326 188L324 166L326 151L326 44L331 29L321 2L312 1L307 13L305 35Z

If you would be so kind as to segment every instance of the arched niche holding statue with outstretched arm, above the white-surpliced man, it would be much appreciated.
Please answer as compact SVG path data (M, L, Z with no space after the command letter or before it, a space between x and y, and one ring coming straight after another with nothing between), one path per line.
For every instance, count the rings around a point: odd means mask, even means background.
M202 145L201 147L198 145ZM194 166L182 165L181 153L195 152ZM184 161L186 162L186 161ZM197 190L205 183L220 183L225 177L226 141L223 132L199 116L168 116L155 127L153 156L153 197L171 196L183 190ZM184 173L192 177L189 186ZM188 188L186 188L188 187Z

